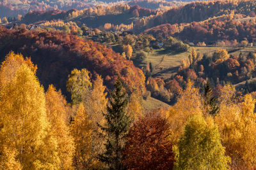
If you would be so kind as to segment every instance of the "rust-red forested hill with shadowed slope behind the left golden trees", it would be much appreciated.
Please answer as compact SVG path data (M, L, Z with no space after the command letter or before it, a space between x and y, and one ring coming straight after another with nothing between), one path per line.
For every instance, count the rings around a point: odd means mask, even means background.
M108 88L118 76L128 92L145 90L142 71L111 48L93 41L61 32L10 31L0 27L0 56L10 51L31 57L38 66L37 76L44 87L53 84L67 94L68 74L74 69L86 68L92 77L100 74ZM1 58L4 60L4 58Z

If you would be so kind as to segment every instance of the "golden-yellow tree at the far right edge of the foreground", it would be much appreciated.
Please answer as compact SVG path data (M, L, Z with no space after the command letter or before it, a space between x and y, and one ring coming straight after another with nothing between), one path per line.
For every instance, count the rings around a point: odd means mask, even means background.
M220 112L215 122L227 155L231 158L231 167L253 169L256 161L255 100L247 94L243 103L237 103L237 99L234 99L236 91L231 88L234 87L225 85L221 90Z

